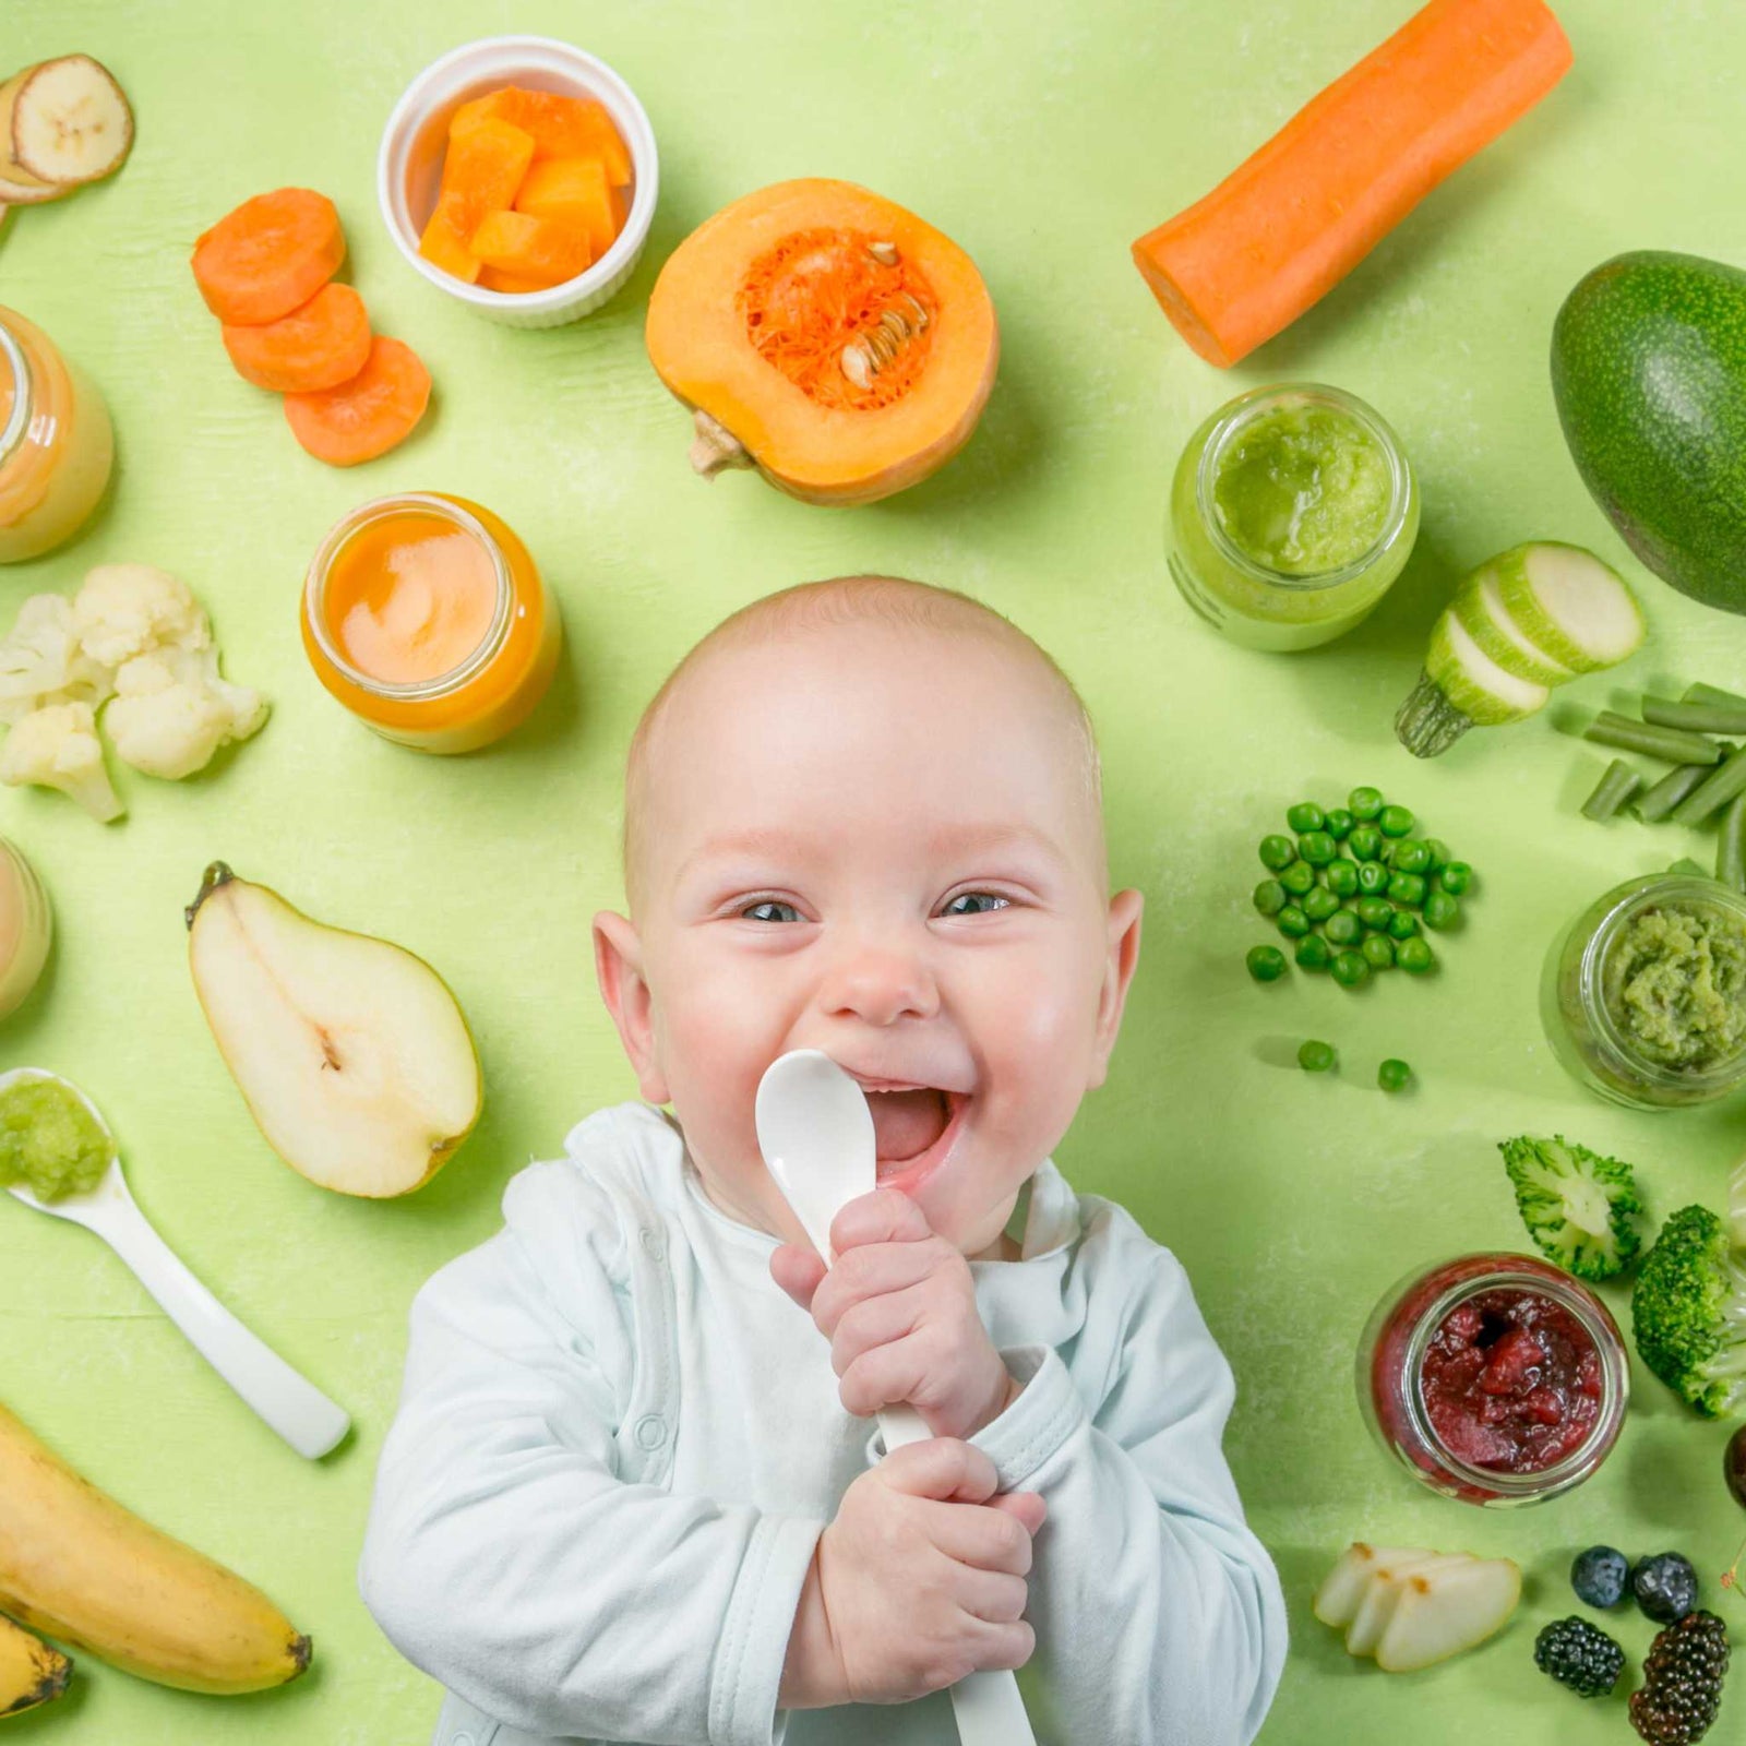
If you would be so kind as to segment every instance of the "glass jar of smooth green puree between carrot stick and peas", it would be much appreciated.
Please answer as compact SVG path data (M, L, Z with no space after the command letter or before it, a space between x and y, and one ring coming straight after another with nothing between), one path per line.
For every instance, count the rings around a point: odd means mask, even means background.
M1308 650L1351 630L1418 538L1400 440L1355 395L1255 388L1189 438L1170 492L1170 574L1233 643Z

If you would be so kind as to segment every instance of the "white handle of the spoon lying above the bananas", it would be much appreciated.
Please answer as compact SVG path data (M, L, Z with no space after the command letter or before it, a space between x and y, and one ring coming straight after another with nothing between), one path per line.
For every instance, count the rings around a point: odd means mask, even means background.
M183 1266L129 1196L91 1229L127 1262L164 1315L299 1454L311 1461L351 1428L346 1411L293 1371Z

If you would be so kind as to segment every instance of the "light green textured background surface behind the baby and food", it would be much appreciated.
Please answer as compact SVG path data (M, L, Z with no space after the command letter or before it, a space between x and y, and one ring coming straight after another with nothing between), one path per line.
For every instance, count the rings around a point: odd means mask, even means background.
M859 567L1009 613L1100 723L1114 873L1145 889L1147 934L1110 1084L1062 1163L1182 1255L1236 1367L1229 1456L1294 1615L1264 1741L1631 1737L1619 1699L1554 1690L1531 1638L1570 1610L1564 1566L1596 1538L1634 1554L1683 1547L1706 1577L1729 1563L1746 1519L1718 1479L1725 1428L1639 1376L1594 1482L1526 1514L1482 1514L1385 1465L1348 1379L1358 1329L1400 1273L1521 1245L1496 1138L1561 1128L1636 1159L1660 1212L1720 1201L1746 1144L1730 1109L1639 1117L1594 1102L1536 1018L1547 941L1606 885L1687 852L1680 833L1577 815L1603 758L1563 732L1557 705L1430 766L1388 726L1454 574L1535 536L1626 564L1652 618L1622 686L1587 681L1573 704L1599 707L1657 676L1746 683L1746 625L1643 576L1591 505L1545 368L1561 297L1608 255L1746 262L1746 12L1722 0L1561 10L1577 66L1557 93L1322 307L1219 374L1154 306L1130 239L1379 42L1407 0L7 0L0 61L98 54L133 98L138 145L113 182L16 213L0 234L0 302L91 370L120 452L108 510L72 548L0 576L0 616L98 560L161 564L208 601L229 670L276 711L192 782L122 772L133 810L110 829L59 796L0 793L0 831L40 868L61 924L44 992L0 1028L0 1063L54 1067L91 1090L166 1238L358 1425L321 1465L299 1460L94 1238L0 1206L5 1402L93 1481L260 1582L318 1645L309 1678L239 1701L159 1690L87 1657L75 1692L9 1723L9 1739L428 1737L436 1690L381 1638L353 1584L407 1304L496 1227L499 1191L529 1156L634 1095L594 990L588 917L620 901L618 766L643 700L732 608ZM377 140L407 80L459 42L512 30L606 58L662 147L636 279L548 333L450 304L400 260L375 210ZM686 419L643 353L669 250L735 196L794 175L854 178L915 206L971 251L1000 311L1000 377L974 442L871 508L808 508L744 475L691 478ZM377 327L410 340L436 381L417 436L351 473L307 459L278 403L230 372L187 271L201 229L288 182L337 199ZM1386 414L1419 468L1425 527L1365 627L1318 655L1259 656L1215 639L1173 594L1163 510L1193 426L1285 377L1337 382ZM461 491L503 515L545 566L569 634L534 721L463 761L372 737L318 688L297 643L321 533L409 487ZM1254 842L1287 801L1330 803L1358 780L1479 864L1470 925L1430 983L1392 976L1357 997L1303 978L1257 988L1241 969L1266 938L1248 910ZM325 1194L250 1123L185 967L180 911L215 856L316 917L405 943L456 988L487 1112L412 1200ZM1303 1035L1339 1046L1339 1077L1287 1065ZM1383 1055L1418 1069L1407 1096L1374 1090ZM1308 1615L1353 1536L1510 1554L1529 1577L1521 1613L1493 1646L1425 1674L1353 1662ZM1722 1605L1746 1627L1746 1608ZM1617 1629L1636 1664L1652 1627L1633 1615ZM1743 1718L1737 1688L1715 1737L1741 1739Z

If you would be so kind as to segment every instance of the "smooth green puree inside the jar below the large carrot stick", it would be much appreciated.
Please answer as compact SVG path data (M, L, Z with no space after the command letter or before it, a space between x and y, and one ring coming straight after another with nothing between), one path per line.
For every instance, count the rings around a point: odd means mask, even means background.
M1236 431L1217 466L1219 526L1245 557L1276 574L1344 569L1388 526L1388 456L1339 407L1280 400Z

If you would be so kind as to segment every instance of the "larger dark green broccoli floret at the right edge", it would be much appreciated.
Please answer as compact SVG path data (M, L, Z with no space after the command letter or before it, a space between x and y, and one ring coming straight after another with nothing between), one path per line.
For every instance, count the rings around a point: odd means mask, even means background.
M1746 1392L1746 1266L1708 1206L1681 1206L1631 1294L1638 1357L1704 1418Z

